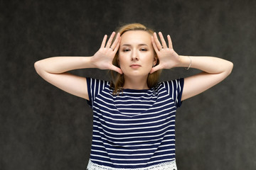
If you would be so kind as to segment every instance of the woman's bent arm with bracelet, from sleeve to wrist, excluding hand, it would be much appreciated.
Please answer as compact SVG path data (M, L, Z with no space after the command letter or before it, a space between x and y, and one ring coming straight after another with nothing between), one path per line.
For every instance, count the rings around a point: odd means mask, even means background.
M181 63L177 67L188 67L188 56L180 56ZM223 81L231 73L233 63L217 57L190 57L191 67L203 72L184 79L181 101L201 94L203 91Z

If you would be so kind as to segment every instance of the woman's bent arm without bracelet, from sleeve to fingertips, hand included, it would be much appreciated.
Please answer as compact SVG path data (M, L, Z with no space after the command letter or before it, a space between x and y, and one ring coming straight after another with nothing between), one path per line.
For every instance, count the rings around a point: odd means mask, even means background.
M68 73L73 69L98 68L112 69L122 74L121 69L112 65L112 60L119 48L119 34L110 47L114 38L112 33L107 41L107 35L102 40L100 50L92 57L50 57L36 62L36 72L50 84L75 96L89 100L87 93L87 81L85 77L78 77ZM107 45L106 45L107 41Z

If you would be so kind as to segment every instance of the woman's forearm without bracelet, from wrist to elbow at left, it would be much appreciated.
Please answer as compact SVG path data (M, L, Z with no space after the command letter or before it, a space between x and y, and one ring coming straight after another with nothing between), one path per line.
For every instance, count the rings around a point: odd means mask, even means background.
M60 74L73 69L94 67L90 62L91 57L50 57L35 63L36 72Z

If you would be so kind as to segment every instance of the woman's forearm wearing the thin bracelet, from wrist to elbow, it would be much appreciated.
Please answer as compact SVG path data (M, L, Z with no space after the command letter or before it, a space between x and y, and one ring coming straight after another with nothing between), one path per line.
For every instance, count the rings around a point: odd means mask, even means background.
M223 60L218 57L195 57L195 56L183 56L181 57L181 63L178 67L188 67L191 64L191 68L200 69L203 72L209 74L230 74L233 69L233 63L228 60Z

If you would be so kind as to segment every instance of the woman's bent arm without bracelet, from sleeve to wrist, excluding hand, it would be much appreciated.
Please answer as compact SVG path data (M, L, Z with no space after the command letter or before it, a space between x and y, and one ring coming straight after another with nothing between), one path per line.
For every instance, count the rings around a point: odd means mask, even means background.
M88 100L87 81L68 73L73 69L92 68L91 57L50 57L35 63L36 72L50 84Z

